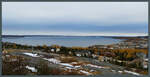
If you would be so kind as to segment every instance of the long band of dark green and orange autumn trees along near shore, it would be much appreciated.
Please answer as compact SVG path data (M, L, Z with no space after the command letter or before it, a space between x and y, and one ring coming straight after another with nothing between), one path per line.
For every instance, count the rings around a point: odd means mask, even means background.
M148 49L97 49L97 48L88 48L88 47L64 47L59 45L43 45L43 46L30 46L30 45L21 45L16 43L2 42L3 49L33 49L40 50L43 52L51 52L51 49L55 49L53 52L57 52L58 48L60 51L58 53L69 55L69 52L75 54L76 51L88 51L91 54L102 55L107 57L113 57L118 60L132 61L137 58L137 53L144 53L148 56ZM82 52L82 53L84 53ZM107 53L106 53L107 52Z

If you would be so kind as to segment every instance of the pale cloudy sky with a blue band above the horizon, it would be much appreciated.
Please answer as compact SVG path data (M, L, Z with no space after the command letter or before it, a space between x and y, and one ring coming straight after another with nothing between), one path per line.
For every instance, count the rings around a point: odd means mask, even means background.
M3 35L148 35L148 2L3 2Z

